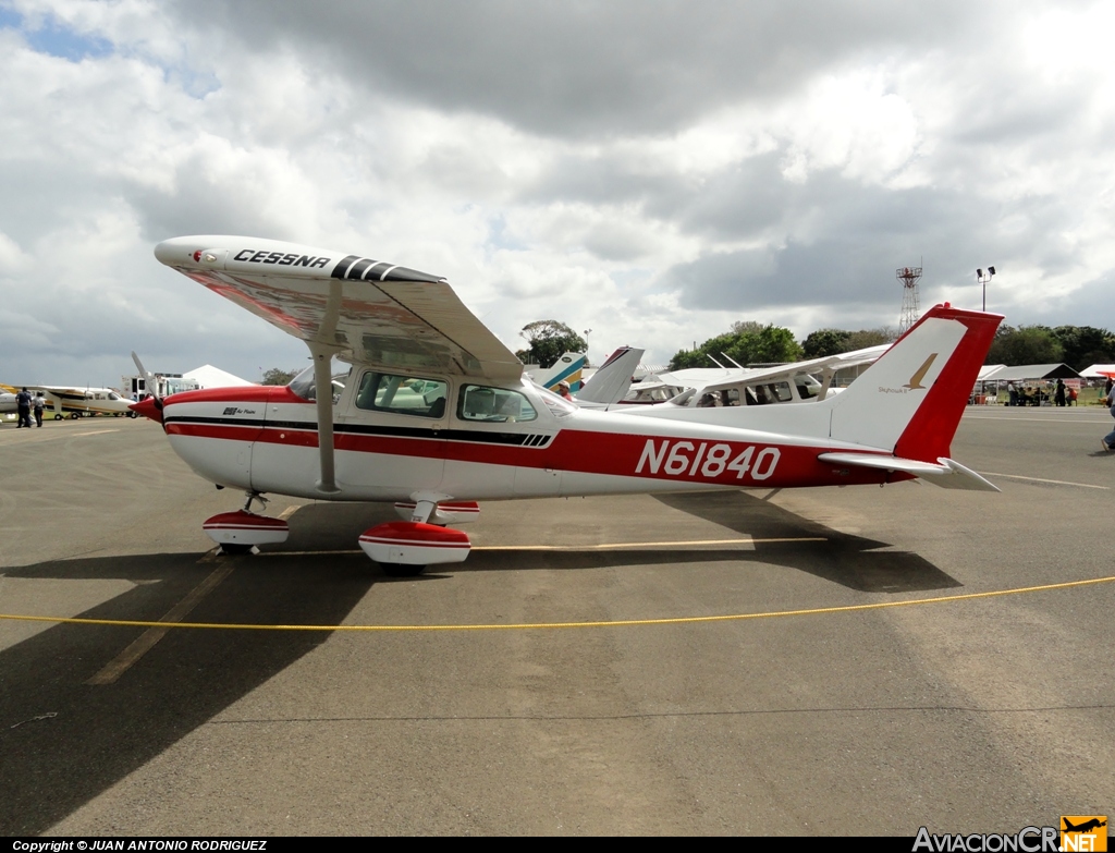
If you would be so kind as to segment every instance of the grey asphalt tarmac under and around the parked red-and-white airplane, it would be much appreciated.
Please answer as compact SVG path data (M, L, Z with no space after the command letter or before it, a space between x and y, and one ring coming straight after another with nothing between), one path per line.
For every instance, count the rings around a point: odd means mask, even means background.
M409 628L0 619L0 834L912 836L1112 814L1111 425L970 409L953 456L1001 494L484 504L467 562L406 580L357 550L389 507L277 496L290 540L217 558L201 523L242 496L155 424L6 425L0 613ZM1103 582L1012 592L1083 580ZM740 614L768 615L686 621ZM544 627L563 622L589 624Z

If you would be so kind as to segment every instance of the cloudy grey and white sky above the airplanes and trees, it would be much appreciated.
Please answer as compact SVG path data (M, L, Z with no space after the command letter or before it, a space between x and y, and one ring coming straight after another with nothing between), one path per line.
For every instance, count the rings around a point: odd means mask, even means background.
M666 362L735 320L922 304L1115 328L1111 2L0 0L0 381L116 385L297 340L169 236L445 275Z

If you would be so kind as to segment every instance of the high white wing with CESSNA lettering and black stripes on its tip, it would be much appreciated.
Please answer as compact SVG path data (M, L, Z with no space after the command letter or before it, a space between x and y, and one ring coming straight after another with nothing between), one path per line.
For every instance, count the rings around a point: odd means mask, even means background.
M514 380L523 366L445 279L278 240L185 236L155 256L310 345L379 367Z

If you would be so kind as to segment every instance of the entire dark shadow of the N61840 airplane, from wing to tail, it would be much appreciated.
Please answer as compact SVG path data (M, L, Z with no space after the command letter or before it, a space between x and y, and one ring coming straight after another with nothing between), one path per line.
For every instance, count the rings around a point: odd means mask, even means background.
M648 563L759 561L784 565L865 592L959 585L912 553L879 552L888 543L833 531L740 492L660 496L667 506L760 539L824 542L756 543L736 549L637 551L478 551L462 571L593 569ZM384 575L362 553L337 553L370 524L397 517L389 506L308 505L282 559L227 558L233 569L220 594L203 598L184 621L240 624L340 624ZM328 553L333 551L333 553ZM530 560L524 560L524 558ZM76 559L6 569L9 578L126 579L129 591L80 615L157 621L225 561L198 554ZM427 575L436 580L438 575ZM394 582L415 582L411 579ZM108 685L87 681L145 629L56 624L0 650L0 835L42 833L127 774L316 649L328 631L169 630ZM154 658L154 660L153 660ZM157 661L157 662L156 662Z

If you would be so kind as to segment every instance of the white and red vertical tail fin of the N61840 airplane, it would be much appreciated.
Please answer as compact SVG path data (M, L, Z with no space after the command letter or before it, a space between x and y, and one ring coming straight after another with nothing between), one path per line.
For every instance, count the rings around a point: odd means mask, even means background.
M948 302L932 308L833 400L832 438L906 459L949 456L1001 321Z

